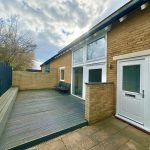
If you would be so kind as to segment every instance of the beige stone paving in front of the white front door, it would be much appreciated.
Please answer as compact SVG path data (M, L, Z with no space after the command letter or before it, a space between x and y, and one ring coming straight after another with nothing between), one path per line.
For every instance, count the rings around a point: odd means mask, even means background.
M28 150L150 150L150 135L112 117Z

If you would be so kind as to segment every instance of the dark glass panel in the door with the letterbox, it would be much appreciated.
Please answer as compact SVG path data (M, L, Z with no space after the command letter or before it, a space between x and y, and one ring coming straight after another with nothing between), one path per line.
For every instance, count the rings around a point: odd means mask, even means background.
M140 93L140 65L123 66L123 90Z

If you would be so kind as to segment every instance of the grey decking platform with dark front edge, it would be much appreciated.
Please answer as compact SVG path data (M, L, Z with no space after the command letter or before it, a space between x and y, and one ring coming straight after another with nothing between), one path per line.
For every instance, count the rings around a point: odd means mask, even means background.
M54 90L22 91L0 139L0 150L23 149L86 123L83 100Z

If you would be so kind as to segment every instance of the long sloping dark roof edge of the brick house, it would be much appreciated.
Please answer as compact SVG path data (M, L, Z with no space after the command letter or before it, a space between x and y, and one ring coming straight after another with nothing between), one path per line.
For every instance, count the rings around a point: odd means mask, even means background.
M83 41L87 37L91 36L92 34L96 33L97 31L100 31L104 29L105 27L115 23L123 16L133 12L134 10L138 9L141 5L148 2L149 0L131 0L121 8L119 8L117 11L109 15L107 18L96 24L93 28L91 28L88 32L82 34L79 38L71 42L69 45L61 49L56 55L45 61L41 66L49 64L51 61L65 53L66 51L69 51L71 47L76 45L77 43Z

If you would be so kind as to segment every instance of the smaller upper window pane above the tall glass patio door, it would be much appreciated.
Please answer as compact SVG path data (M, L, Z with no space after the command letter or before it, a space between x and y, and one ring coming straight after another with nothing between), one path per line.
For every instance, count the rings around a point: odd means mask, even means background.
M77 64L81 62L83 62L83 48L73 52L73 63Z

